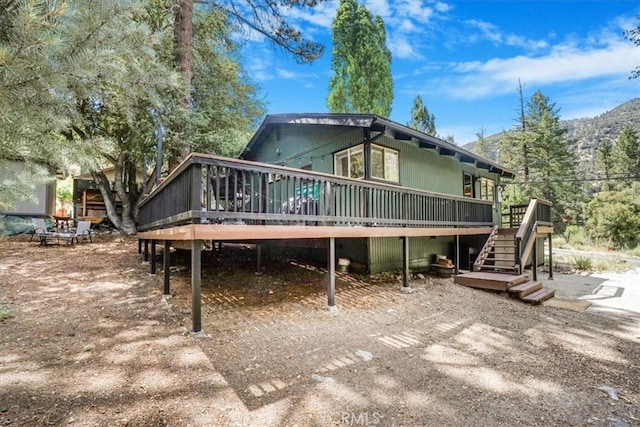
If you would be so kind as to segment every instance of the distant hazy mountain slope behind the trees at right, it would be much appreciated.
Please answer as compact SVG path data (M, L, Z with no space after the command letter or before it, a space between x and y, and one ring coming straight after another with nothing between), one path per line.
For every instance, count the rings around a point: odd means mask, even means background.
M580 170L593 173L597 170L596 161L600 144L604 140L613 143L618 139L626 124L631 124L640 134L640 98L632 99L597 117L561 120L560 126L567 129L567 140L572 142ZM495 160L502 133L487 136L489 157ZM476 141L464 148L473 151Z

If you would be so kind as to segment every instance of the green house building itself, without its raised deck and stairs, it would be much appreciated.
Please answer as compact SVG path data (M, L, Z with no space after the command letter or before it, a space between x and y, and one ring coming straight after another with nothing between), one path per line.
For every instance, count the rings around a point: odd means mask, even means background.
M373 114L268 115L241 157L481 200L491 205L494 225L501 223L500 185L514 177L477 154ZM453 258L454 233L412 238L410 268L426 269L437 254ZM486 234L462 238L461 268L469 269L470 255L473 262L485 240ZM313 242L294 242L306 243L307 255L314 253ZM402 244L394 237L339 239L336 251L370 273L402 267Z

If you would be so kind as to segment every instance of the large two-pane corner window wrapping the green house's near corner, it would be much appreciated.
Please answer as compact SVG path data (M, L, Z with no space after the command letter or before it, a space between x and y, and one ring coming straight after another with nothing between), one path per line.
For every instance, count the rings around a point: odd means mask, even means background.
M341 151L335 155L336 175L364 178L364 146ZM398 152L371 145L371 177L386 181L400 181Z

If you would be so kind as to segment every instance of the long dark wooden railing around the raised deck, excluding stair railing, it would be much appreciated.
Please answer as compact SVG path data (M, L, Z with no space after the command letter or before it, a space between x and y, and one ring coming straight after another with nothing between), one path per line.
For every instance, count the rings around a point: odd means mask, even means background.
M141 231L190 223L491 226L492 203L192 154L140 203Z

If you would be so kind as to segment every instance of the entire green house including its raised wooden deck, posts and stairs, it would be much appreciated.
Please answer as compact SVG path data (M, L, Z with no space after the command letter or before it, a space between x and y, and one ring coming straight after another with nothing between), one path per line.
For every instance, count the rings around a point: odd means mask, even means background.
M372 114L267 116L241 159L191 153L140 201L138 252L156 273L164 246L165 295L171 247L191 250L193 332L201 331L201 252L205 241L274 242L304 247L327 262L327 306L335 308L335 266L349 257L375 273L410 269L447 255L458 283L517 290L540 302L541 240L551 205L511 206L502 227L503 166ZM144 248L144 250L143 250ZM150 253L149 253L150 252ZM301 251L298 251L300 253ZM472 259L472 256L474 259ZM533 265L533 280L523 270ZM456 271L457 273L457 271ZM508 274L507 274L508 273Z

